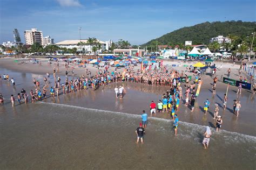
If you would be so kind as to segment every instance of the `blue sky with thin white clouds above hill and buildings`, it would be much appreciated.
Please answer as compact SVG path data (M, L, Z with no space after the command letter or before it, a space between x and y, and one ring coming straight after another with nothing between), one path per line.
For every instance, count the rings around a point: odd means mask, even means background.
M255 22L254 0L0 0L0 43L37 28L55 42L96 37L132 45L204 22Z

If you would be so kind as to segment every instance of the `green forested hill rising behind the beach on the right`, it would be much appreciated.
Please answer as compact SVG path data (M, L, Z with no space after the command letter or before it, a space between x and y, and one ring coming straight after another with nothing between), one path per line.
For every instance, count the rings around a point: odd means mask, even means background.
M235 36L245 37L255 31L256 22L227 21L227 22L205 22L194 26L183 27L172 31L158 38L159 45L177 45L185 44L185 41L192 41L196 44L209 44L209 40L217 36ZM156 45L156 39L146 42L142 46Z

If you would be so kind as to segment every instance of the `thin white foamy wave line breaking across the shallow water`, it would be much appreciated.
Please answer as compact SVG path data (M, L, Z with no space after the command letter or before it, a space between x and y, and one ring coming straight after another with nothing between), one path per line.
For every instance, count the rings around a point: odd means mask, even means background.
M78 107L75 105L68 105L68 104L59 104L59 103L48 103L48 102L37 102L38 104L49 104L49 105L55 105L55 106L62 106L62 107L69 107L69 108L76 108L76 109L83 109L83 110L88 110L88 111L93 111L96 113L99 112L104 112L104 113L111 113L111 114L117 114L117 115L123 115L123 116L127 116L127 117L133 117L133 118L141 118L140 115L134 115L134 114L128 114L125 112L115 112L115 111L109 111L109 110L100 110L100 109L91 109L91 108L84 108L84 107ZM165 119L165 118L158 118L158 117L148 117L148 120L154 120L154 121L160 121L160 122L165 122L165 123L173 123L173 120L171 119ZM150 125L152 125L152 123L150 123ZM179 121L179 125L181 125L183 128L185 127L185 130L181 130L182 128L179 129L179 131L186 131L186 133L198 133L194 132L192 129L196 129L196 130L200 130L200 132L203 133L203 131L205 130L206 126L203 125L198 125L198 124L194 124L194 123L188 123L188 122L183 122L183 121ZM163 127L160 127L161 130L163 130ZM231 136L232 137L232 141L236 141L238 140L237 137L239 137L240 139L246 139L246 141L250 142L252 141L253 143L255 143L256 141L256 137L254 136L250 136L248 134L242 134L242 133L238 133L238 132L231 132L231 131L226 131L226 130L222 130L219 132L215 132L214 128L211 128L212 134L217 135L217 136L222 136L222 137L227 137L227 136ZM183 134L181 136L187 136L187 134ZM226 139L224 139L226 140ZM230 138L228 138L228 140L230 140ZM245 142L246 142L245 141Z

